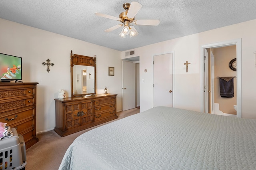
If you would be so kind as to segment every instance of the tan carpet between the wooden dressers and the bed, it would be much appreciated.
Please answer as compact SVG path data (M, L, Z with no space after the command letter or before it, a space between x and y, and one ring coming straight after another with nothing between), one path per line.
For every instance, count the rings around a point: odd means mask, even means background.
M134 115L139 113L140 109L130 109L127 111L118 112L118 119ZM113 122L110 121L110 122ZM102 125L108 124L104 123ZM100 127L98 125L68 136L60 137L54 130L44 132L36 135L39 138L39 142L26 150L26 170L58 170L62 158L72 142L84 132L87 132L93 128Z

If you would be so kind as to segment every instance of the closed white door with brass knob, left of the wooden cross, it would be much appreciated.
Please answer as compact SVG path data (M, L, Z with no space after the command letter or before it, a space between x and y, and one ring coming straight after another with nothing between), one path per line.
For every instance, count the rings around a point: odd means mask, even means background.
M154 56L154 107L173 107L172 53Z

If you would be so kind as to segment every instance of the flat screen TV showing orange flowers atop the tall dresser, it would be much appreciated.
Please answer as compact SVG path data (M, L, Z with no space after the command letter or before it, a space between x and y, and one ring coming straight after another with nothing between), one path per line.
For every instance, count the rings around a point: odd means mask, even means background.
M1 82L22 80L22 57L0 53Z

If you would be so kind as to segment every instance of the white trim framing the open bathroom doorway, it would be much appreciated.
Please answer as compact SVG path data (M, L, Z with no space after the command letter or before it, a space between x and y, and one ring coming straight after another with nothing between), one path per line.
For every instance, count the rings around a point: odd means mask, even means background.
M204 49L210 47L225 47L229 45L236 45L236 78L237 78L237 111L236 117L242 117L242 40L235 39L225 42L211 43L200 46L200 89L201 90L201 108L200 111L204 112Z

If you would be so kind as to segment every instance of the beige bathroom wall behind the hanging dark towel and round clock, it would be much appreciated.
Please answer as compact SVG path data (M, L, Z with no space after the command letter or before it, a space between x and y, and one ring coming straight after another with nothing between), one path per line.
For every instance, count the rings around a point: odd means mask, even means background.
M236 80L234 79L234 97L225 98L220 96L219 79L216 77L236 76L236 71L229 68L229 62L236 58L236 45L219 47L213 49L214 54L214 102L219 103L219 110L223 113L236 115L234 105L236 105Z

